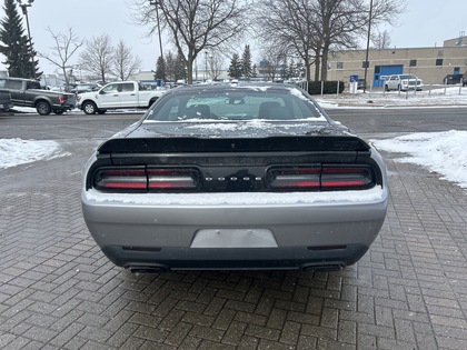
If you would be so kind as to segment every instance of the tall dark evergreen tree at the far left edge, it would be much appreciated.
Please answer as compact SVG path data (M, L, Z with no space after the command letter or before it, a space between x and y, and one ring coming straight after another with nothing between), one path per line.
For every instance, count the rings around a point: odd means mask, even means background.
M0 22L0 53L6 57L2 63L10 77L39 78L37 52L28 36L24 34L16 0L4 0L4 18Z

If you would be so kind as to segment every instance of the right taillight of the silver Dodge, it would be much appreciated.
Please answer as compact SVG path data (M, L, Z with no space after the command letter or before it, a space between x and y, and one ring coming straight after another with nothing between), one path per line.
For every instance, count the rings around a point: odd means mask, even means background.
M376 174L367 166L270 168L267 183L276 190L364 190L376 184Z

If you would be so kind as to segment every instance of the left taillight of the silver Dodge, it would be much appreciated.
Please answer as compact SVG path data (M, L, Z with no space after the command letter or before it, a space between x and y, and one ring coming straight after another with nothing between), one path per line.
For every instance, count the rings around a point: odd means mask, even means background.
M195 190L196 169L102 168L95 171L92 187L107 192L160 192Z

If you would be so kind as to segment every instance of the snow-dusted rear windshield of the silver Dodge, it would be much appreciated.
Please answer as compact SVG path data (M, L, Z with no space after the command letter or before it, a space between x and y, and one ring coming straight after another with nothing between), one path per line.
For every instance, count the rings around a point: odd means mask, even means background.
M161 98L148 121L326 120L300 90L237 88L177 91Z

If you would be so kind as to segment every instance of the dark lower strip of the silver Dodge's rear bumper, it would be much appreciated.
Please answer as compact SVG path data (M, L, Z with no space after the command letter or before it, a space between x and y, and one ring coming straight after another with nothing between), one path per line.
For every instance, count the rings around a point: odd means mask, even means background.
M312 247L141 250L133 247L107 246L103 253L116 266L132 272L170 270L318 270L336 271L357 262L368 246L349 244L328 249Z

